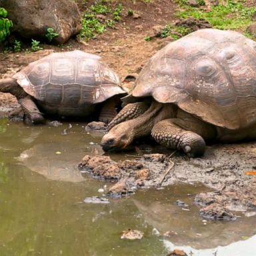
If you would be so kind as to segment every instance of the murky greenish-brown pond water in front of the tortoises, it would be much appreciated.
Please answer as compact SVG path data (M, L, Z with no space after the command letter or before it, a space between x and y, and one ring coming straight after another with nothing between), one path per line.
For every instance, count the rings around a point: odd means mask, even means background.
M0 119L1 256L161 256L174 248L200 256L256 255L256 218L203 221L193 204L194 195L206 190L201 185L83 203L109 186L83 177L76 167L83 155L103 153L100 139L101 133L87 133L82 123L26 127ZM177 199L188 206L176 205ZM143 231L143 239L120 239L129 228Z

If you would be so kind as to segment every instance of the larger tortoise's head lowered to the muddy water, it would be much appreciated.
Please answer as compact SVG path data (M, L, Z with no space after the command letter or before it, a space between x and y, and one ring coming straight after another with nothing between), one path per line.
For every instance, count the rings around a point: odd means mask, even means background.
M125 149L134 138L133 126L129 121L115 125L101 139L101 147L104 151L118 151Z

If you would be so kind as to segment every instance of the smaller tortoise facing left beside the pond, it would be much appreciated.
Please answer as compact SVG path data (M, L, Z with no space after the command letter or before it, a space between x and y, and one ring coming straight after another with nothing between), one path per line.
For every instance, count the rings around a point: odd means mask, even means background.
M110 121L117 114L117 98L126 93L101 57L83 51L52 53L30 63L13 77L1 79L0 92L15 95L25 120L34 124L45 121L43 113L87 117L95 109L100 121Z

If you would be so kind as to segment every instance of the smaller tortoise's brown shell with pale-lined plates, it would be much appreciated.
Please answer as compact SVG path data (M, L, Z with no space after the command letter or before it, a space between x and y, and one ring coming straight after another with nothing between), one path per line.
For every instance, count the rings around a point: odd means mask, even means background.
M101 57L83 51L52 53L21 69L13 78L48 112L62 109L74 115L110 97L126 93L117 74ZM54 111L52 111L54 112Z

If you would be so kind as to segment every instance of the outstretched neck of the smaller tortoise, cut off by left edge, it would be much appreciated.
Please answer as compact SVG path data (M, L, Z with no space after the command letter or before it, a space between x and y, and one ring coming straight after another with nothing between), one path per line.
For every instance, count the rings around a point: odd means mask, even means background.
M21 99L27 96L27 93L19 86L16 79L5 78L0 80L0 92L11 93L17 99Z

